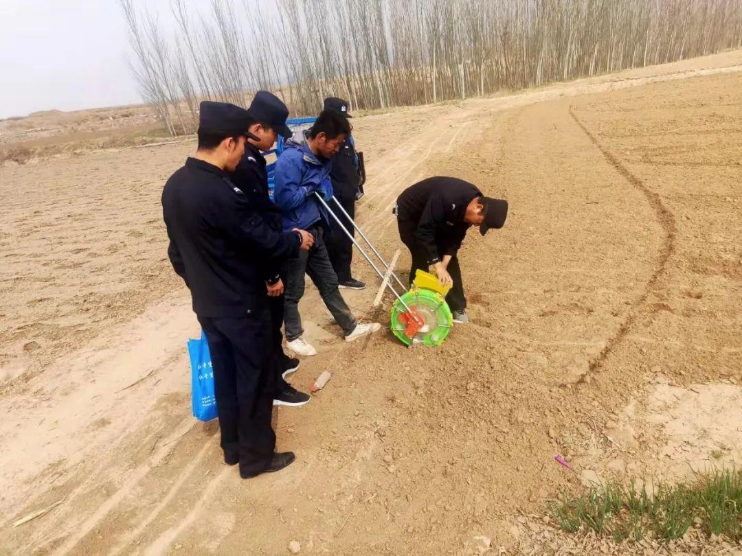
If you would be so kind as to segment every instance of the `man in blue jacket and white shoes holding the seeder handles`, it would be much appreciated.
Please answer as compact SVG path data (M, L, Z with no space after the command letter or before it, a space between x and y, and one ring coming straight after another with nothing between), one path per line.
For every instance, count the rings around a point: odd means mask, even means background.
M314 237L309 251L301 251L289 259L286 274L286 345L296 354L316 355L317 350L303 339L299 316L299 300L304 294L304 274L309 274L335 322L343 329L347 342L378 331L378 322L363 324L355 320L347 303L338 291L338 277L327 254L324 234L331 226L330 218L316 198L332 199L330 159L350 135L347 118L332 110L324 110L312 128L295 133L286 142L286 149L278 158L275 170L275 202L283 211L283 231L295 228L306 230ZM337 228L335 226L335 228ZM335 234L343 234L335 229Z

